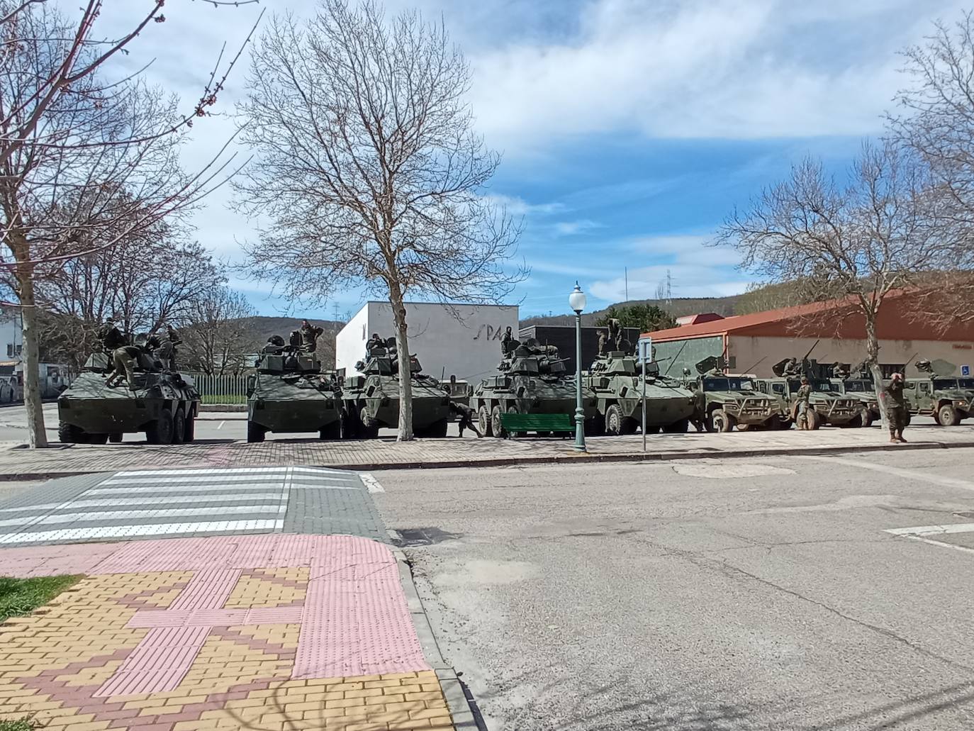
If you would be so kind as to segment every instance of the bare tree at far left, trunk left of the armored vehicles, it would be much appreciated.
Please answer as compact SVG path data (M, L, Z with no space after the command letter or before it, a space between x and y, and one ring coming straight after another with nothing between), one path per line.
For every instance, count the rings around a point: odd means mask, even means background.
M101 40L101 6L88 0L70 20L46 0L0 0L0 266L13 277L22 313L31 446L47 443L36 282L55 277L66 261L178 217L227 165L214 159L187 175L178 164L186 131L206 115L225 75L214 70L190 112L137 73L108 78L107 62L165 17L155 0L131 32Z

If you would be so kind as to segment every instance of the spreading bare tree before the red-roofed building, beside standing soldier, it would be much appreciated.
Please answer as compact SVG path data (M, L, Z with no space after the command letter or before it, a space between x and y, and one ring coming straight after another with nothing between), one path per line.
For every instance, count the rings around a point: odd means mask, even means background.
M945 267L955 243L943 238L925 169L886 143L864 145L839 185L812 160L734 212L715 244L732 245L742 266L771 283L790 283L807 302L840 298L807 318L818 328L863 319L867 362L882 388L877 318L886 295Z

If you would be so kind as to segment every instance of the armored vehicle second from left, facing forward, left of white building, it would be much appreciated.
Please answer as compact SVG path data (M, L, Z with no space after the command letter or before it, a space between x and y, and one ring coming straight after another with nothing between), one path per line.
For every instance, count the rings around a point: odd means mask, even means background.
M268 432L318 432L322 440L341 439L338 381L321 372L314 352L301 350L295 333L287 346L278 335L270 338L255 367L247 378L247 442L263 442Z

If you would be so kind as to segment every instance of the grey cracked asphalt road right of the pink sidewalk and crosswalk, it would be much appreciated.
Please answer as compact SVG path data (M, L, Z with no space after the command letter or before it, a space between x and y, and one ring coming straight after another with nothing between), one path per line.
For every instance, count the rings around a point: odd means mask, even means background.
M374 476L492 731L961 731L971 465L951 449Z

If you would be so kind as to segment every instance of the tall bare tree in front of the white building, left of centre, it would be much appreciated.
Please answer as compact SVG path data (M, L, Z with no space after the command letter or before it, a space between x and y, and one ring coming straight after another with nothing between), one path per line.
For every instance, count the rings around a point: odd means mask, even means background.
M323 301L364 286L393 306L399 440L412 433L408 294L498 301L518 225L483 195L499 157L472 130L468 63L442 25L393 19L366 0L321 0L275 18L254 50L241 106L259 160L235 184L270 220L252 272Z

